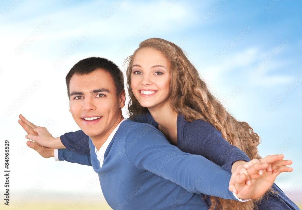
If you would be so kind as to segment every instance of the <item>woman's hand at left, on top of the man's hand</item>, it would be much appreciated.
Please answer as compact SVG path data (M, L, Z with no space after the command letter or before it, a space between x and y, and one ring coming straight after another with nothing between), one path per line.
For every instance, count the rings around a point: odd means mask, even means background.
M65 149L60 137L54 138L45 127L35 126L33 123L25 119L21 114L19 115L18 123L27 132L25 138L33 140L37 144L54 149Z

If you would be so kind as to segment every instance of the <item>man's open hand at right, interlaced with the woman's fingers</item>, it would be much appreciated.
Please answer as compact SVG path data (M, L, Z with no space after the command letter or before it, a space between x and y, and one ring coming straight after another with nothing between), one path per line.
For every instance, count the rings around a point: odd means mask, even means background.
M235 194L237 194L236 190L238 190L237 196L240 199L257 199L261 197L271 187L280 173L291 172L293 170L291 167L286 166L290 165L292 161L282 160L283 157L282 154L268 155L261 159L263 163L255 159L248 162L247 165L250 165L250 167L247 169L247 173L251 184L246 184L248 176L246 173L241 173L235 178L235 188L230 184L229 190L235 191ZM268 169L270 165L272 169Z

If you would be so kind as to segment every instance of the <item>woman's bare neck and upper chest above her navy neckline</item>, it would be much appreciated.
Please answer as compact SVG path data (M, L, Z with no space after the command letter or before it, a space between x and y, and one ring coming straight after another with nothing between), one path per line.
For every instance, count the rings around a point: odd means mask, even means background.
M172 145L177 145L177 113L167 104L160 108L148 108L153 119L158 123L158 129Z

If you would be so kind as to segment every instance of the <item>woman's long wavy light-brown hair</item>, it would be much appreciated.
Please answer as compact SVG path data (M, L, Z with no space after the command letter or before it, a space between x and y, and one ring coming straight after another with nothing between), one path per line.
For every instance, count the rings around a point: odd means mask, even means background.
M129 56L127 65L127 88L130 96L128 110L131 116L148 112L134 97L131 90L132 61L135 54L142 48L159 50L171 62L170 99L172 108L184 115L188 122L195 119L203 119L211 123L222 137L231 145L235 145L247 154L250 159L261 158L257 146L260 137L246 122L237 121L228 113L222 104L210 93L205 82L199 77L198 71L188 60L182 49L169 41L151 38L140 43L140 46L132 56ZM250 209L254 204L249 202L237 202L211 196L212 209Z

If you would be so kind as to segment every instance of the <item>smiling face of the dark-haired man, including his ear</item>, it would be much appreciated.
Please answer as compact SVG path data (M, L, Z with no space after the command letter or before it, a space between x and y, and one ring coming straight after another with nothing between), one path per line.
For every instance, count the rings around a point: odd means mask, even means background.
M116 94L108 72L97 69L88 75L75 74L69 90L69 111L86 135L98 138L112 132L125 105L125 92Z

